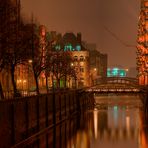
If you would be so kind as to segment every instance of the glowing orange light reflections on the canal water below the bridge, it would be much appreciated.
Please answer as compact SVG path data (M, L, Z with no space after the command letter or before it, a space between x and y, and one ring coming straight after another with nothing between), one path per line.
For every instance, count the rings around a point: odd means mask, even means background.
M96 96L67 148L148 148L147 133L139 96Z

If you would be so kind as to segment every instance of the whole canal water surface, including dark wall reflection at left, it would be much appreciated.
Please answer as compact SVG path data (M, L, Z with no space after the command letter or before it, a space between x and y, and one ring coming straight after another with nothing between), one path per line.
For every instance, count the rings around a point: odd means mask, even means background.
M148 148L147 123L139 95L95 95L94 109L71 115L22 147Z

